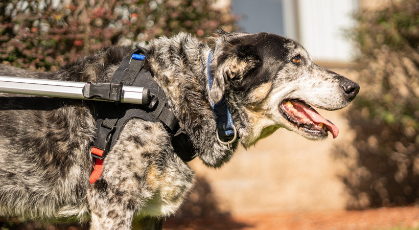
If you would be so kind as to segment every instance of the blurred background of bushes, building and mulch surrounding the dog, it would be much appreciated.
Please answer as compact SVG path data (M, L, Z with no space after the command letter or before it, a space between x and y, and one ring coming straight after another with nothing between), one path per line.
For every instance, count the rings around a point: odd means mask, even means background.
M293 38L361 90L342 110L318 110L335 140L278 130L221 169L193 160L196 186L166 229L419 229L417 0L2 1L0 62L56 71L107 45L180 31L211 42L216 29Z

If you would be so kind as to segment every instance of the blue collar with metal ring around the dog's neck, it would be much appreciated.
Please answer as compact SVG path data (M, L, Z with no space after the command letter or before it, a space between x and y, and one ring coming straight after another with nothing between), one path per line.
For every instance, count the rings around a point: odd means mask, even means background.
M206 62L206 76L208 79L208 89L211 91L211 88L213 87L213 81L214 77L211 76L211 71L209 68L209 64L211 63L213 51L209 51L208 59ZM227 103L225 101L225 97L221 99L220 102L217 104L212 103L213 110L216 114L217 119L217 139L220 143L224 145L229 145L237 140L237 130L234 126L233 120L231 119L230 110L228 109ZM222 137L223 139L229 139L229 137L233 137L232 140L225 142L220 141L219 137Z

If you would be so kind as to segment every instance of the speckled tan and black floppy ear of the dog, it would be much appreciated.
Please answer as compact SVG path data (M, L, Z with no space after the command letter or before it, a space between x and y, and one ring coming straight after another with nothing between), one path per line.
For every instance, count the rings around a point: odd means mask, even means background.
M221 101L227 84L240 84L243 78L258 67L260 63L259 57L250 53L229 55L215 68L214 82L209 92L209 98L214 103Z

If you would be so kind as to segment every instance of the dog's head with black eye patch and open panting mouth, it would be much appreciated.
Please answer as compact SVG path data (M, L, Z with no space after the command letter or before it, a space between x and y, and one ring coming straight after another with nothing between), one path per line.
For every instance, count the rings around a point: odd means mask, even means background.
M359 85L316 65L307 51L275 34L219 32L211 72L210 99L225 96L244 111L240 130L249 146L280 127L311 140L339 130L313 107L340 109L357 95Z

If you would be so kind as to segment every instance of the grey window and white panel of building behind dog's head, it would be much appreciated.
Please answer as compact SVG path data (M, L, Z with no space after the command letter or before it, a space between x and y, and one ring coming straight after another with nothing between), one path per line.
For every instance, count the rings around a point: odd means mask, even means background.
M298 40L315 61L350 62L354 55L344 30L354 25L357 0L232 0L231 7L243 31Z

